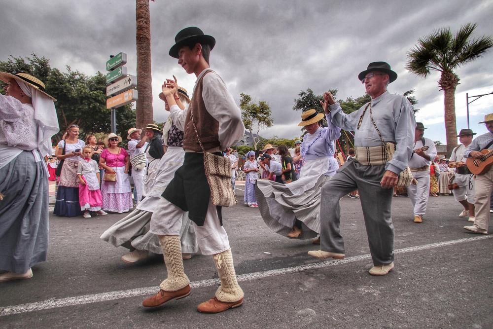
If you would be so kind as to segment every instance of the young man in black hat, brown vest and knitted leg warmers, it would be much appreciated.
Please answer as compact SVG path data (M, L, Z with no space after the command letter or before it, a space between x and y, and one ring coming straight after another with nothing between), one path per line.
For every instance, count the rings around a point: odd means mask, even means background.
M194 73L197 80L183 131L185 159L163 193L167 201L151 218L150 232L159 237L168 278L161 283L160 291L146 298L142 304L155 307L190 294L190 281L183 270L179 238L182 216L188 211L200 250L204 255L213 256L221 281L215 296L201 303L197 310L218 313L241 306L243 290L236 280L228 234L222 226L221 207L214 206L210 199L204 154L197 135L206 151L222 156L221 150L236 145L243 137L245 126L240 109L224 81L209 69L209 54L215 39L204 35L199 28L190 27L178 32L175 41L170 56L178 59L178 64L186 73ZM176 105L175 93L176 83L163 85L163 94L172 116L174 112L181 111Z

